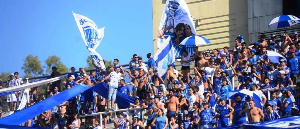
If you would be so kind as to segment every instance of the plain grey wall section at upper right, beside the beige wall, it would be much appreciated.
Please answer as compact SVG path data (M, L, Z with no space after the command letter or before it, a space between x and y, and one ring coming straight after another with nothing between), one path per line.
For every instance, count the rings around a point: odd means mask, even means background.
M249 44L258 40L258 33L271 31L272 19L282 15L282 0L248 0ZM274 29L273 29L274 30Z

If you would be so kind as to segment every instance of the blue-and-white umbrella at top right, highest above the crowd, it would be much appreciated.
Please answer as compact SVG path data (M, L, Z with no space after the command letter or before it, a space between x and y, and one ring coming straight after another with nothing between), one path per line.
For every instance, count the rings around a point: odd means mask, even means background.
M278 17L274 18L269 23L269 28L277 29L277 28L281 28L281 27L289 27L289 26L298 24L299 22L300 22L300 19L298 17L295 17L293 15L283 15L283 16L278 16Z

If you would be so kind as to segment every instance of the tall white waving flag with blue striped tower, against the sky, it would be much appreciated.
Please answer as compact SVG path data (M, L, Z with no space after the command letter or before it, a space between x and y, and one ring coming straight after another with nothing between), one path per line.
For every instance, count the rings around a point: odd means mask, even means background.
M96 23L93 22L91 19L76 13L73 13L73 16L75 18L76 24L80 31L81 37L85 43L85 46L90 52L94 63L97 65L97 67L105 69L102 56L95 51L95 49L99 46L104 37L105 27L98 29Z

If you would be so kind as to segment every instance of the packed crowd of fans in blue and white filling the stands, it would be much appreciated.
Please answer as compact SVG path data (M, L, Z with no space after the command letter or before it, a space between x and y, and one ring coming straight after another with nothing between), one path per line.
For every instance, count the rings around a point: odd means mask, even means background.
M279 57L279 63L271 61L267 50L277 52L285 58ZM144 109L134 110L132 120L127 118L128 112L116 112L118 120L113 118L112 113L104 114L104 128L107 122L113 122L119 129L199 129L299 116L300 41L297 32L292 36L281 34L279 39L272 35L267 41L265 35L260 35L259 41L248 45L243 36L238 35L233 50L224 47L214 49L213 55L210 54L210 50L199 52L197 46L194 47L193 54L183 50L181 72L169 65L167 85L164 85L163 78L158 75L151 53L146 55L147 65L143 63L142 56L134 54L129 69L119 65L118 59L114 59L113 66L106 70L95 65L96 70L89 74L83 68L79 68L79 73L76 73L72 67L63 86L60 81L49 83L46 89L48 97L78 84L93 86L104 82L109 85L108 98L87 90L21 125L78 129L83 124L79 115L116 110L116 91L135 98L135 103L130 104L131 108ZM56 66L52 70L52 78L60 76ZM190 76L191 70L195 73L194 77ZM125 76L129 76L130 84L137 87L136 96L133 88L125 85ZM238 78L238 86L233 88L232 79L235 76ZM6 86L22 83L16 72L10 75ZM293 85L296 87L292 87ZM1 80L0 88L5 88ZM272 88L276 90L268 91ZM229 98L229 92L236 89L256 93L262 102L262 108L256 107L259 101L249 97L235 95ZM16 109L21 94L22 92L16 92L7 95L8 112ZM38 98L37 88L32 88L30 94L31 101L27 107L42 101L42 98ZM124 107L118 106L118 109ZM98 129L100 121L102 119L98 115L85 117L85 128Z

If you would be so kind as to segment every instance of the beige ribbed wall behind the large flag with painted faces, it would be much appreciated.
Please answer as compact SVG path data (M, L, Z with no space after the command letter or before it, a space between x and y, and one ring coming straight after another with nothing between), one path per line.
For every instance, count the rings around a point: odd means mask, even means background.
M211 41L199 46L199 50L234 46L237 35L244 35L248 42L247 0L185 0L196 27L196 35ZM166 0L152 0L153 50L157 50L157 32Z

